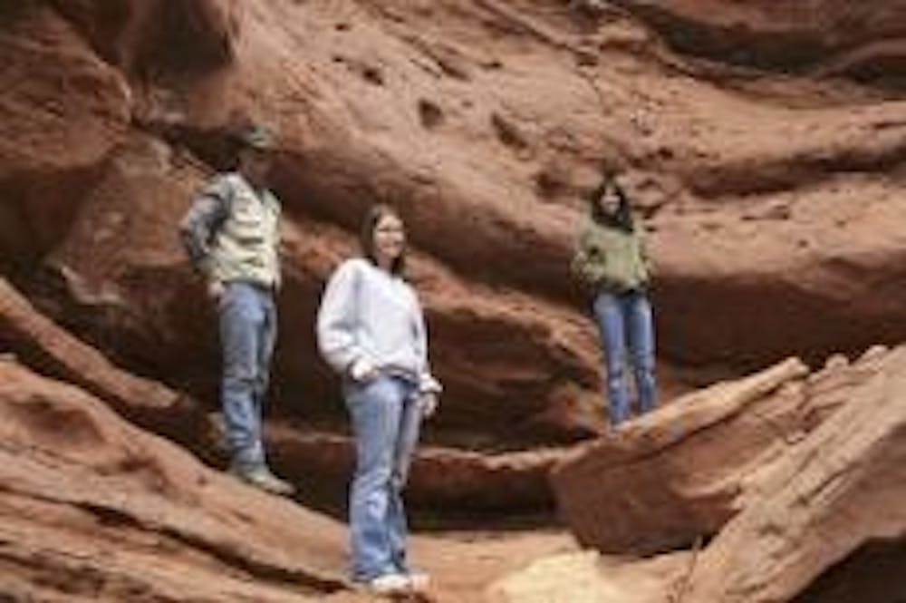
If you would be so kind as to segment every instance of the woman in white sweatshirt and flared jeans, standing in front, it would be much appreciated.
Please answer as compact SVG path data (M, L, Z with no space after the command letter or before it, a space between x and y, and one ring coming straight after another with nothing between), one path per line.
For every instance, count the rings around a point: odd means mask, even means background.
M419 299L403 277L406 234L395 209L371 208L361 231L362 258L344 261L324 290L318 346L342 376L352 417L356 469L349 502L352 578L393 593L427 586L406 560L406 511L400 495L440 384L430 374Z

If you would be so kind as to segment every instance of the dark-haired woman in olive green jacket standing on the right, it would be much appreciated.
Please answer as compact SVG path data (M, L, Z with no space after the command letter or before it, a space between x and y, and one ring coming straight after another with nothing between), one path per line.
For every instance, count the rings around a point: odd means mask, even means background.
M651 267L643 227L632 216L617 175L605 174L589 196L590 211L576 241L573 274L593 292L601 335L612 425L631 417L628 364L641 413L654 408L654 325L647 289Z

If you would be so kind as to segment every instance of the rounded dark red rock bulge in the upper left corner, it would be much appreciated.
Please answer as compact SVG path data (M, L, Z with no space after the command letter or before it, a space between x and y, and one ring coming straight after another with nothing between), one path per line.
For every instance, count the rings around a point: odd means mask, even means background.
M49 6L0 27L0 251L40 258L65 232L86 181L130 121L132 92Z

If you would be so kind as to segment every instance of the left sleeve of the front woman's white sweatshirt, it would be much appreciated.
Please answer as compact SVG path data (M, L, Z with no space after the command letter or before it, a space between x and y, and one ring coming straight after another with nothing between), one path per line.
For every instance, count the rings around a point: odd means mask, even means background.
M337 373L346 373L352 364L367 360L355 336L358 316L357 279L359 267L348 260L338 267L327 282L318 308L318 349Z

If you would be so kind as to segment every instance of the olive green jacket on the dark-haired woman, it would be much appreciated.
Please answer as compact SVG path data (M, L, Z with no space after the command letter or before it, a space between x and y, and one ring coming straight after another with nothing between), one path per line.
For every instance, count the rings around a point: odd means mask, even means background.
M641 226L627 232L586 218L576 240L572 270L586 287L613 292L644 289L651 264Z

